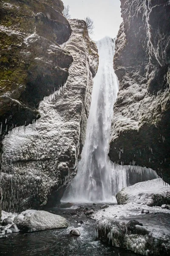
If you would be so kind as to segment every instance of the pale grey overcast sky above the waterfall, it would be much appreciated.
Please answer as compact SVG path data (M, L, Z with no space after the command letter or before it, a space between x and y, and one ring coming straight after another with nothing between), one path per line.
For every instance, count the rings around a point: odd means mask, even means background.
M120 0L62 0L65 6L70 6L71 18L84 20L90 17L94 20L95 41L106 35L115 38L122 23Z

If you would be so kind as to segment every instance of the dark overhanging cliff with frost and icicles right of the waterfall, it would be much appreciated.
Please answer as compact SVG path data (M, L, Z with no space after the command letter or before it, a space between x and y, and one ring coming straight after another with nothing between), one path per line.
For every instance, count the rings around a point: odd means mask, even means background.
M109 157L170 183L170 1L121 0L121 8Z

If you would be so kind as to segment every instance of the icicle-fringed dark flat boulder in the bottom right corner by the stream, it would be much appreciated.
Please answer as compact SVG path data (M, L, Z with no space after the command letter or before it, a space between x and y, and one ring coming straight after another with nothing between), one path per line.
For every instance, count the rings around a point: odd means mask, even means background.
M96 221L96 237L142 255L169 255L170 214L101 218Z

